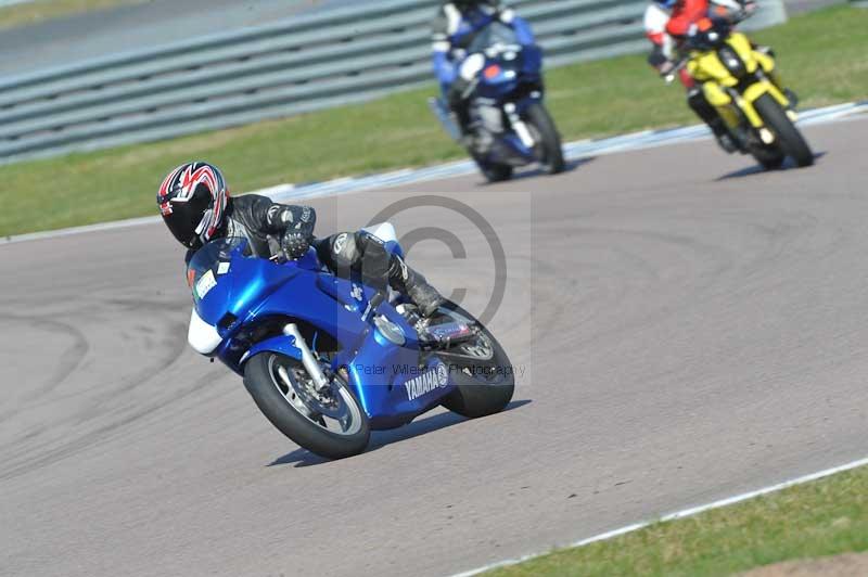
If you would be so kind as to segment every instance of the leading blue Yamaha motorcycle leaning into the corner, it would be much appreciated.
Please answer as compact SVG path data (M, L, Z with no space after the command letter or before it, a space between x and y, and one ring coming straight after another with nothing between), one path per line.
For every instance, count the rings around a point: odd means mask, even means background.
M400 254L394 228L366 229ZM360 453L373 429L443 405L469 418L502 410L514 375L497 339L447 302L430 317L399 293L337 278L314 248L252 257L247 241L204 245L188 266L188 341L244 377L266 418L330 459Z

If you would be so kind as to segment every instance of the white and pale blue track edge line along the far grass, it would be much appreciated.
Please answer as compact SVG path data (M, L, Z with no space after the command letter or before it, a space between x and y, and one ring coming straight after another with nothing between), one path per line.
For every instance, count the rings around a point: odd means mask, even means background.
M801 113L800 124L814 125L826 124L841 120L845 117L865 112L868 110L868 102L848 102L844 104L833 104L822 108L813 108ZM695 140L711 138L711 133L704 125L692 125L680 128L662 130L642 130L626 134L616 134L602 139L578 140L564 144L566 157L571 161L601 156L605 154L617 154L622 152L654 149L681 144ZM314 182L309 184L277 184L247 194L264 194L276 201L289 200L310 200L330 195L352 194L376 188L392 188L399 184L410 184L432 180L442 180L463 176L474 171L471 161L452 161L449 163L425 166L421 168L399 168L390 172L367 175L361 177L342 177L324 182ZM404 177L404 178L400 178ZM43 232L28 232L13 236L0 239L0 246L18 244L28 241L41 241L59 236L71 236L87 232L101 232L128 227L138 227L159 222L159 217L139 217L112 222L98 222L84 227L72 227L66 229L50 230Z

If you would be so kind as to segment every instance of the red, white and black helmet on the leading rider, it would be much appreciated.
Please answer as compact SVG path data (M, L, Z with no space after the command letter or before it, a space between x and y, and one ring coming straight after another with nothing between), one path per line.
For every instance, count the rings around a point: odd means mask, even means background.
M228 201L229 189L220 170L199 161L169 172L156 194L163 221L189 248L212 240L222 225Z

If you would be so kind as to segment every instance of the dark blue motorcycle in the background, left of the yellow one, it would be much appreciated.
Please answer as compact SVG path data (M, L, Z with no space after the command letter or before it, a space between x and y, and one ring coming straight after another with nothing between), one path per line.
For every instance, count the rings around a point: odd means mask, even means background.
M501 23L489 24L467 50L460 76L468 81L470 134L461 137L442 99L431 101L446 131L463 143L489 182L509 180L515 167L537 164L545 172L564 170L561 137L542 103L542 51L522 47Z

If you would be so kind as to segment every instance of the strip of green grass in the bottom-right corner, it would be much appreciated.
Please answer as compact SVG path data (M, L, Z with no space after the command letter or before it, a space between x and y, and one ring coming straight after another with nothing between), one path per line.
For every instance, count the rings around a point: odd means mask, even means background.
M863 551L868 551L868 467L486 575L715 576Z

